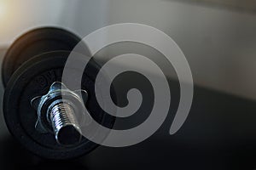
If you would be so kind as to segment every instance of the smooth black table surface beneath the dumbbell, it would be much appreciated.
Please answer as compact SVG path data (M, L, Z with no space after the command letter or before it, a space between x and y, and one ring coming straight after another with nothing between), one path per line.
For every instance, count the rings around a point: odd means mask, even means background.
M3 89L3 88L2 88ZM176 90L178 91L178 90ZM3 90L1 91L3 94ZM256 167L256 102L195 87L187 121L170 135L166 122L149 139L124 148L100 146L70 161L47 161L23 149L0 116L1 169L253 169Z

